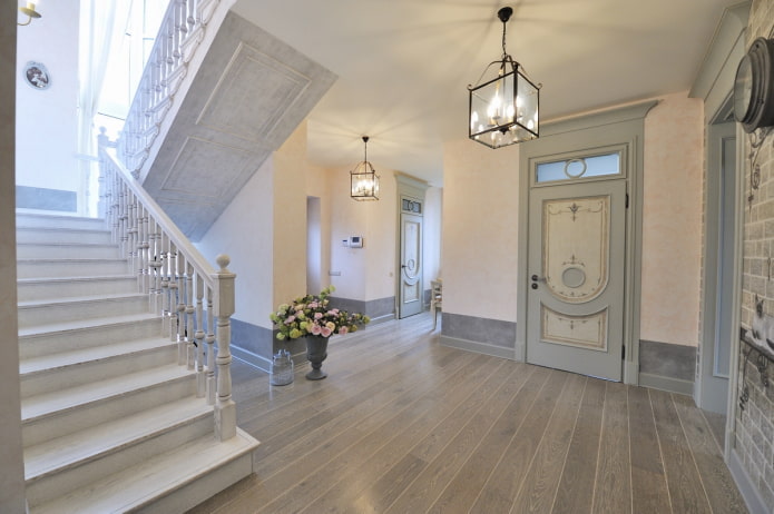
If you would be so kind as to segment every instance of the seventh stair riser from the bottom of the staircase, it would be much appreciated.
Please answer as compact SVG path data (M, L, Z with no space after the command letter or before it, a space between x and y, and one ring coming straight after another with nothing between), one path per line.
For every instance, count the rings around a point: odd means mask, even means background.
M20 283L17 287L19 302L39 299L72 298L77 296L119 295L137 293L137 278L99 278L84 277L72 280Z

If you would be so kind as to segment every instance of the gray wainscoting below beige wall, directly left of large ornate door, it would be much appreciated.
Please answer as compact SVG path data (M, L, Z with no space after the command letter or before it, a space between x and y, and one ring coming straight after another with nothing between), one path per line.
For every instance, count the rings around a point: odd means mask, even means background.
M442 313L441 344L496 357L516 358L516 323Z

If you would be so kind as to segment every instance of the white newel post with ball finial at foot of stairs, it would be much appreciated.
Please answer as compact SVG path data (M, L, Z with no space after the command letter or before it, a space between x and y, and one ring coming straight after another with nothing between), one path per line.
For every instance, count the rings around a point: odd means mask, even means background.
M234 314L234 279L226 267L227 255L215 258L221 269L215 279L215 316L217 317L217 402L215 403L215 435L226 441L236 435L236 404L232 399L232 314Z

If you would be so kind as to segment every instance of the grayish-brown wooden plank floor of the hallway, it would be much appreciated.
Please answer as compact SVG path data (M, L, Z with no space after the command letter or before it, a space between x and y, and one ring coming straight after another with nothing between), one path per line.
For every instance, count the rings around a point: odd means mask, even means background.
M255 474L192 513L746 512L686 396L447 348L427 314L307 369L270 387L234 364Z

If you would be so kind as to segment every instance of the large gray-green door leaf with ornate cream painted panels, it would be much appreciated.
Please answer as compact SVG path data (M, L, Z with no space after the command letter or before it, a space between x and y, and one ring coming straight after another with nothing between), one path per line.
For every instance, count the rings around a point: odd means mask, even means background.
M626 181L533 188L527 360L621 379Z

